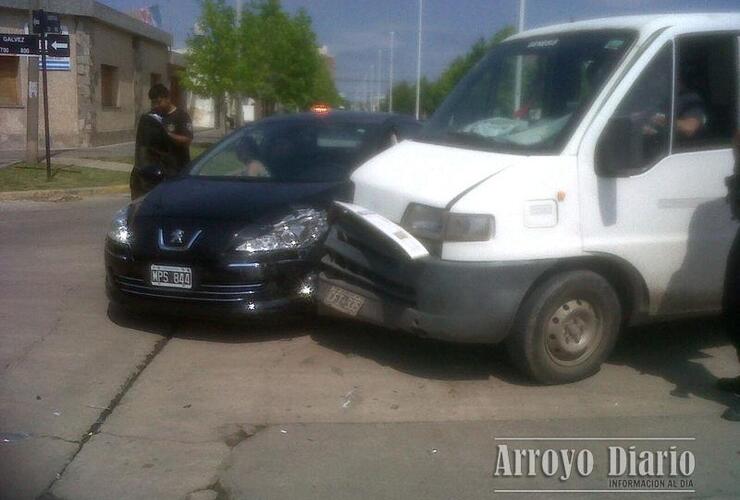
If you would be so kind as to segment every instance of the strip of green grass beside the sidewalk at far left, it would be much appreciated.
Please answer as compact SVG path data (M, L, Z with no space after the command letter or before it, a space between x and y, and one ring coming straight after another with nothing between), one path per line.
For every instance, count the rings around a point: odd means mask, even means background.
M46 180L46 168L20 163L0 169L1 191L32 191L41 189L68 189L115 186L128 184L128 172L99 168L55 165L51 181Z

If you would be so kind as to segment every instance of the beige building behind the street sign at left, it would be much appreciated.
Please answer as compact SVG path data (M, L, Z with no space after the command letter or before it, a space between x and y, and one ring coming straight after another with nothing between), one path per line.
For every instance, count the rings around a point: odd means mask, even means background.
M33 0L0 0L0 32L28 33L29 9L35 4ZM170 86L175 100L185 104L177 76L184 58L170 52L169 33L93 0L46 0L43 4L61 15L71 48L68 59L49 65L52 148L133 140L136 120L149 108L147 92L154 83ZM26 147L28 65L37 60L0 57L0 150ZM39 111L43 106L39 105ZM40 144L43 141L40 118Z

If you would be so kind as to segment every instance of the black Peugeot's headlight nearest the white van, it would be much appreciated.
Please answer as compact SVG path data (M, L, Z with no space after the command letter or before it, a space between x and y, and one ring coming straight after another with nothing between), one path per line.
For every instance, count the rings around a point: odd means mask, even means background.
M243 242L236 247L236 251L260 253L305 248L319 241L328 228L326 212L302 208L273 224L263 234L238 235Z

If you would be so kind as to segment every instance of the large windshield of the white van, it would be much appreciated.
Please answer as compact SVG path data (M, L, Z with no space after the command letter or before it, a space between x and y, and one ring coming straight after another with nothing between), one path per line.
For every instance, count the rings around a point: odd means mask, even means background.
M498 45L458 84L419 140L556 152L634 39L633 32L582 31Z

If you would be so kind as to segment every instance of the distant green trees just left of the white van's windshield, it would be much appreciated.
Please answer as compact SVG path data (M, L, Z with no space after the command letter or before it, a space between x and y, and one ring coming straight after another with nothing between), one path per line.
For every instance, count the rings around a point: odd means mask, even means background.
M447 95L458 82L485 56L491 48L516 31L511 26L497 31L490 40L483 38L476 41L465 54L455 58L434 82L426 78L421 82L421 114L431 116L442 104ZM416 108L416 85L400 82L393 86L393 110L398 113L413 114Z

